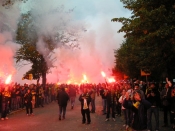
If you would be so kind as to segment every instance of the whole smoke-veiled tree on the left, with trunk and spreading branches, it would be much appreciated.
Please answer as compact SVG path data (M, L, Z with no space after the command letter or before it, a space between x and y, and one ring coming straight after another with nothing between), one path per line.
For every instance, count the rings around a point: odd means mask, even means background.
M62 11L62 10L61 10ZM66 23L63 22L63 26ZM78 30L57 30L55 27L53 34L38 35L38 27L35 25L35 21L32 18L30 12L22 14L18 23L16 40L22 46L16 53L16 62L29 61L32 63L32 68L24 75L33 74L33 78L39 81L42 77L42 84L46 84L46 74L49 73L50 68L53 67L53 62L56 58L53 57L54 49L62 46L69 47L71 49L78 48ZM41 41L42 52L37 48L37 42ZM59 43L59 46L58 44ZM22 64L23 66L23 64Z

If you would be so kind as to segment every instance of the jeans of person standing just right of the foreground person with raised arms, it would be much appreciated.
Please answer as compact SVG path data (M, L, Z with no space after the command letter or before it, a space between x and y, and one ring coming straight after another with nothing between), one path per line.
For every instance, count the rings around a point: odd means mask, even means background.
M156 126L155 129L159 130L159 108L158 107L150 107L147 110L147 128L148 130L152 130L152 113L154 113L155 121L156 121Z

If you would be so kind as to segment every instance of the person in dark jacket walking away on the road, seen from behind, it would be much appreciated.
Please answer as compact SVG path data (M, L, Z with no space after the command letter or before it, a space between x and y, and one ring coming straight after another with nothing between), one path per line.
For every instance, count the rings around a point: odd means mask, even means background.
M69 101L69 95L66 93L64 87L61 87L61 89L58 91L57 100L59 105L59 120L64 120L66 115L67 102Z

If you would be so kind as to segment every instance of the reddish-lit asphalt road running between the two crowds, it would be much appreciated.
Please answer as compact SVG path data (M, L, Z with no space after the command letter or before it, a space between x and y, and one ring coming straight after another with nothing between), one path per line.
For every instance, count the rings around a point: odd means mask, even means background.
M59 121L57 102L52 102L35 108L34 116L26 116L25 110L11 113L8 120L0 121L0 131L125 131L123 117L116 117L115 122L112 119L105 122L106 116L102 115L101 110L101 98L96 97L96 113L91 114L91 124L82 124L80 102L76 99L74 109L71 109L69 103L66 119ZM162 113L160 111L160 131L171 131L170 127L161 127ZM152 121L154 123L154 117Z

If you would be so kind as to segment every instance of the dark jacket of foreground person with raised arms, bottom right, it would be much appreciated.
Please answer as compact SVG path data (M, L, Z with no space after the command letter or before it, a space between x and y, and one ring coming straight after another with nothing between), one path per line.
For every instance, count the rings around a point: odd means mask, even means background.
M132 128L134 130L145 130L147 129L147 109L151 107L151 103L145 99L142 99L140 102L138 109L134 106L134 104L129 100L124 100L123 106L127 109L131 109L133 111L133 123Z

